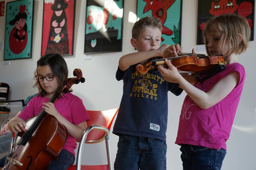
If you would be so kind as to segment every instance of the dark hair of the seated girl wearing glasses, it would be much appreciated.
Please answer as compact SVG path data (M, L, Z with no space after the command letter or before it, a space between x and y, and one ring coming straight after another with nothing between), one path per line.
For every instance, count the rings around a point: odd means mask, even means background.
M61 91L63 89L63 86L67 83L68 81L68 68L67 68L67 63L63 59L63 57L57 53L50 53L47 55L44 55L37 61L37 68L39 66L50 66L52 72L54 73L54 78L57 78L57 94L61 94ZM39 83L39 80L37 80L37 85L39 88L39 95L40 96L45 96L47 94L44 89L42 89L42 86Z

